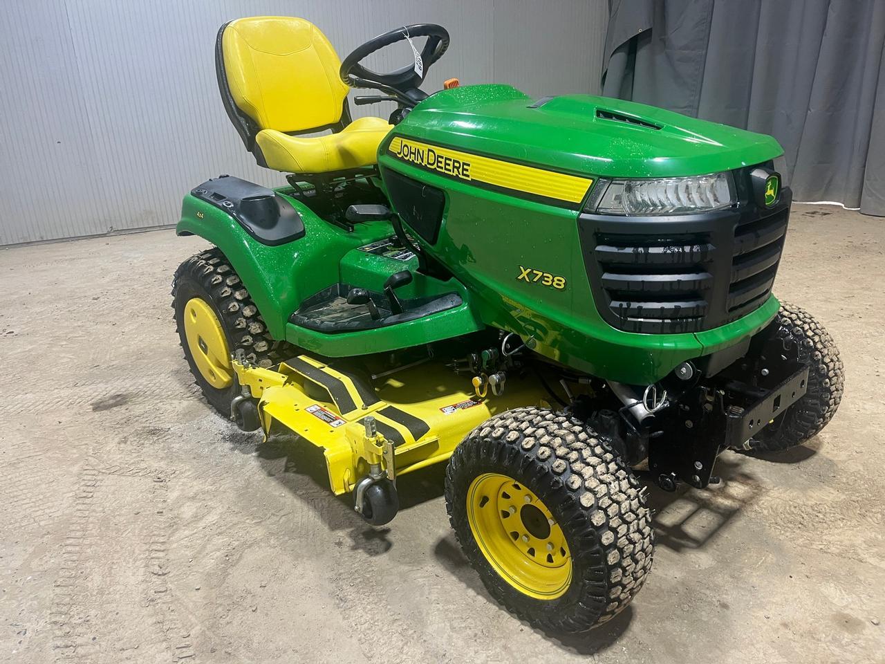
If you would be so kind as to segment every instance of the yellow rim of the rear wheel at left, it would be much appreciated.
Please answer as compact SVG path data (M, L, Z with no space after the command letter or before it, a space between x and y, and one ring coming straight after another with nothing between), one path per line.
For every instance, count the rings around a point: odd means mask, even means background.
M206 382L219 390L234 382L224 330L212 306L200 297L193 297L184 305L184 336Z

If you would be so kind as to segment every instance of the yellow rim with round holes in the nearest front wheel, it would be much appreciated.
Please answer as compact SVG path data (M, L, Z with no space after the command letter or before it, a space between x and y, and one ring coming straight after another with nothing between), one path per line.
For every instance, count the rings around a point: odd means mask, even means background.
M507 475L480 475L467 490L467 521L489 565L518 591L556 599L572 583L566 537L547 506Z

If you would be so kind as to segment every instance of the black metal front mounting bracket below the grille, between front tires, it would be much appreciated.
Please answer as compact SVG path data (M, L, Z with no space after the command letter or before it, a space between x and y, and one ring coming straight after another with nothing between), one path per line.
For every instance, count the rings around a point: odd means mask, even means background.
M777 376L769 376L769 384ZM675 405L676 421L650 440L649 469L665 489L677 480L703 489L722 450L740 447L795 404L808 389L808 367L781 365L781 381L770 389L728 381L690 390Z

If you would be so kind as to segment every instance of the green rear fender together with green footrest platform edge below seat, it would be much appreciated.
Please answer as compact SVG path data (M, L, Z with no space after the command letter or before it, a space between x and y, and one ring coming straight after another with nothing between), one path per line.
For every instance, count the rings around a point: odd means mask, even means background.
M285 196L283 191L278 191ZM402 262L359 251L359 247L392 235L387 221L357 224L352 233L321 220L286 197L304 221L304 237L279 246L259 243L227 212L188 195L181 206L178 235L199 235L224 252L275 339L285 339L328 357L391 351L466 335L483 327L473 313L470 293L456 280L443 282L414 272L417 260ZM323 334L289 323L289 315L306 297L335 283L346 282L381 290L387 277L412 269L411 284L397 290L402 297L427 297L457 292L464 304L389 328Z

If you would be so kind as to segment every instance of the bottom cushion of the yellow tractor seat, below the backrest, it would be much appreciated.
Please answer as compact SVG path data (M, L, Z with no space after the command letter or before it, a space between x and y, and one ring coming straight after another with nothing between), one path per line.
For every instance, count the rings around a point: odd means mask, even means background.
M304 138L263 129L256 141L269 168L287 173L327 173L373 165L378 145L391 128L381 118L359 118L336 134Z

